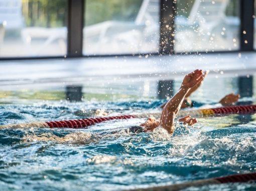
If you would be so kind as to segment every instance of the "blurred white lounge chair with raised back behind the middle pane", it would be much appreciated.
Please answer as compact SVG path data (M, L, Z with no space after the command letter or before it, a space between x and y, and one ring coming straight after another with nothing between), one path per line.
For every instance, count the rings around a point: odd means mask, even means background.
M86 26L83 30L85 43L93 42L100 51L104 43L136 44L142 41L143 35L147 35L148 40L158 39L159 9L159 0L143 0L134 22L109 20Z

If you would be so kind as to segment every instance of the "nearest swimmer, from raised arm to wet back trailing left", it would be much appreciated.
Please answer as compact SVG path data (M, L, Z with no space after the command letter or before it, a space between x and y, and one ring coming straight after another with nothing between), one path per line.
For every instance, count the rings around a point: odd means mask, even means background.
M128 129L125 129L126 132L133 132L133 133L140 133L140 132L149 132L153 131L156 127L163 127L167 130L169 134L173 134L175 130L175 117L177 113L179 112L182 102L186 96L186 94L190 91L191 88L193 88L195 85L198 85L198 83L201 83L201 81L204 78L203 70L196 69L191 73L188 73L184 76L184 79L182 81L181 87L179 91L165 104L160 120L156 120L155 118L151 117L146 122L142 123L140 126L131 126ZM193 125L197 122L195 118L191 118L191 116L185 116L183 118L178 119L178 121ZM118 130L112 131L111 133L117 133ZM105 134L101 133L101 136ZM92 136L91 133L84 132L84 133L71 133L68 135L65 135L64 137L58 137L53 136L50 140L53 141L60 141L60 142L80 142L81 139L78 139L77 137L80 137L83 135L86 137L86 141L96 141L99 139L99 137ZM46 136L40 137L40 136L28 136L25 137L25 141L31 141L31 140L49 140L49 134L46 134ZM88 140L87 140L88 139ZM84 142L84 141L83 141Z

